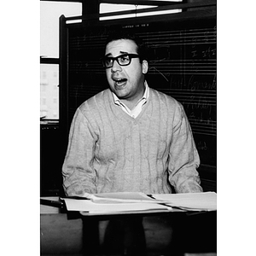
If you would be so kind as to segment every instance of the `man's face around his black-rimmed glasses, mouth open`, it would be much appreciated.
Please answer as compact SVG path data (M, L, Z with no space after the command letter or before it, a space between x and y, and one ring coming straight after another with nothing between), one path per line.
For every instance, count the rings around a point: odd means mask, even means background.
M137 44L129 39L119 39L107 44L105 56L116 57L122 54L137 54ZM140 63L132 58L128 66L120 66L113 61L113 67L106 69L110 89L121 100L137 102L144 91L144 75L148 72L148 62Z

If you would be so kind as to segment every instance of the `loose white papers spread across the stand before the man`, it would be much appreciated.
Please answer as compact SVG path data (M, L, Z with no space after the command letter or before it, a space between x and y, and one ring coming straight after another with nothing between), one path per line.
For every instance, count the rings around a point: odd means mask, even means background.
M82 200L81 200L82 199ZM64 198L68 211L90 213L172 211L178 207L188 211L217 209L214 192L145 195L137 192L85 194L83 198Z

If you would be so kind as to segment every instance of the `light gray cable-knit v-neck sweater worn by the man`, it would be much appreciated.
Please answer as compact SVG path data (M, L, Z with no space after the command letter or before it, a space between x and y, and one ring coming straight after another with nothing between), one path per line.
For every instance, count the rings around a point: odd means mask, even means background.
M103 90L73 117L62 167L67 195L137 191L201 192L200 160L182 105L149 88L136 119Z

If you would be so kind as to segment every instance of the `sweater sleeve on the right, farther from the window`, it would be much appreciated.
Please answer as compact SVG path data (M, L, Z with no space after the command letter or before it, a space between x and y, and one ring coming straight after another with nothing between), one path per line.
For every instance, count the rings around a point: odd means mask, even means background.
M169 181L177 193L201 192L201 180L196 168L198 152L183 106L177 104L174 114L172 144L169 152Z

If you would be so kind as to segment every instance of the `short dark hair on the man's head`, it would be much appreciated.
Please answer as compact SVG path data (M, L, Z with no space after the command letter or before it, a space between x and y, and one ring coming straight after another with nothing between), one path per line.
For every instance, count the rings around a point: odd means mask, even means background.
M108 34L108 38L105 45L119 39L131 40L135 44L137 44L137 54L140 56L139 57L140 61L141 62L143 62L143 60L148 61L148 48L144 44L143 39L139 38L139 36L135 33L126 32L124 29L118 30L118 31L112 31Z

